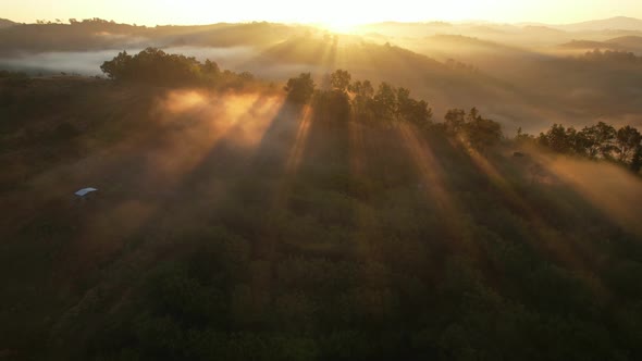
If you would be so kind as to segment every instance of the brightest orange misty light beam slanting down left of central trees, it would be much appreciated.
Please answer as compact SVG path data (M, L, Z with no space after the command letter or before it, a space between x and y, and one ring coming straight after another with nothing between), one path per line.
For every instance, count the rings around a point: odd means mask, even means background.
M136 154L136 161L141 163L140 171L129 174L131 179L126 184L139 188L137 199L107 197L99 211L84 216L86 222L79 226L77 241L70 246L69 256L91 262L123 247L122 241L128 235L158 214L163 202L159 195L177 187L220 141L237 141L231 138L233 129L251 133L249 138L245 136L245 141L256 144L260 139L259 133L268 127L282 100L258 94L170 92L158 102L158 112L152 114L158 123L169 128L160 135L164 139L159 139L158 144L138 141L126 147L121 145L118 151L111 149L113 152L109 154L115 162L126 161ZM146 157L139 157L143 153ZM100 191L109 194L110 190ZM114 227L116 224L119 226Z

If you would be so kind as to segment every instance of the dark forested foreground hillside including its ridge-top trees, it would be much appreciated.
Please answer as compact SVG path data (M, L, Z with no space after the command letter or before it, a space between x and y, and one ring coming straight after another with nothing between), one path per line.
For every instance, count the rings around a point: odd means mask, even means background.
M102 70L0 79L2 356L642 358L640 234L513 157L632 167L634 128L507 139L347 71L270 90L156 49Z

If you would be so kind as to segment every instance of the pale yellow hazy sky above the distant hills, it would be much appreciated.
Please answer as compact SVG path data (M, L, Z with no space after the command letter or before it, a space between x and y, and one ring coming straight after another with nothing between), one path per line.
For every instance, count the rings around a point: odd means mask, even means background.
M138 25L273 21L342 26L378 21L487 20L572 23L642 18L642 0L0 0L0 17L101 17Z

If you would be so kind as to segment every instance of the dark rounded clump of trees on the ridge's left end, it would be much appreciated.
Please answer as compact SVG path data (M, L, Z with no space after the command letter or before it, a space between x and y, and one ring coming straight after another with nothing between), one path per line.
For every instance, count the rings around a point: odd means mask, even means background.
M255 78L248 72L221 71L209 59L201 63L194 57L169 54L157 48L147 48L135 55L120 52L100 69L114 80L165 86L243 86Z

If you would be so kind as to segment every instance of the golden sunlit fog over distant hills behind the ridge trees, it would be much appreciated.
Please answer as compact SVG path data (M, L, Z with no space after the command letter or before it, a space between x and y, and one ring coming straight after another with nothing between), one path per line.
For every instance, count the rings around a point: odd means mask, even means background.
M501 122L507 134L518 127L539 133L553 123L582 127L598 119L616 125L642 125L639 64L615 58L584 59L585 49L568 45L585 39L604 43L605 50L618 43L621 46L616 49L629 51L642 39L634 36L637 33L618 39L624 33L442 23L376 24L363 27L362 35L336 36L272 25L146 32L147 42L129 41L140 38L132 34L123 39L119 35L112 39L116 42L108 46L119 49L120 43L120 51L136 53L145 46L157 45L168 53L210 59L223 70L250 72L275 84L307 72L320 84L323 75L344 69L354 79L387 82L410 89L430 103L436 120L450 108L477 107ZM33 37L39 39L37 33ZM102 76L102 62L119 52L36 51L63 49L65 41L62 36L55 47L39 43L30 50L5 52L0 57L0 67L33 75L64 72ZM87 38L78 43L90 49L89 45L100 46L95 41Z

